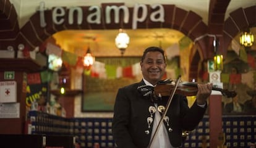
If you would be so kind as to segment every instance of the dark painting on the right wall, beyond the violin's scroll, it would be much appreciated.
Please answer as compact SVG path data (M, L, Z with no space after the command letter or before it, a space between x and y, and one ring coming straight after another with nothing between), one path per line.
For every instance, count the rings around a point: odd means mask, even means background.
M221 74L223 88L236 94L223 97L224 115L256 114L256 52L237 55L229 51Z

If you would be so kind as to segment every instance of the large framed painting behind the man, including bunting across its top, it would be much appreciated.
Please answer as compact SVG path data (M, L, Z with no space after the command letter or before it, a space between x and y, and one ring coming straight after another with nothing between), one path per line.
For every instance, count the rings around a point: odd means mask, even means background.
M141 80L140 57L98 57L83 75L82 112L113 112L119 88Z

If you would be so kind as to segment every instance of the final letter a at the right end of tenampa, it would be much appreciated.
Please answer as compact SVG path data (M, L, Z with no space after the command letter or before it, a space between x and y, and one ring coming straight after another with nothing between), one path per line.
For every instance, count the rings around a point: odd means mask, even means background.
M150 15L150 20L152 22L164 22L164 7L161 4L153 4L151 8L156 9L159 7L159 10L152 12ZM159 15L159 18L156 18Z

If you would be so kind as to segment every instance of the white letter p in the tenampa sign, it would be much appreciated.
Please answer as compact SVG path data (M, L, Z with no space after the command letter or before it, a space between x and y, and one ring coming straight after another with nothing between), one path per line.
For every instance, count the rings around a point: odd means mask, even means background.
M142 16L139 18L139 9L142 9ZM137 29L137 22L143 22L147 17L148 9L145 4L135 4L134 16L132 18L132 29Z

